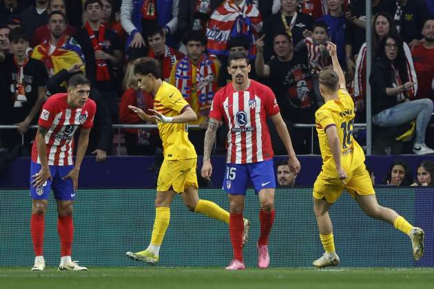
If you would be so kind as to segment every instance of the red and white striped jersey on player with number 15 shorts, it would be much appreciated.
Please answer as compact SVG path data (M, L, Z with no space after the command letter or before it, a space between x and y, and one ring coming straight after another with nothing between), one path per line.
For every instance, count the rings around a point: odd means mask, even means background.
M266 85L250 82L249 88L236 91L229 83L215 95L209 117L225 119L227 162L247 164L273 158L267 116L280 111L276 96Z

